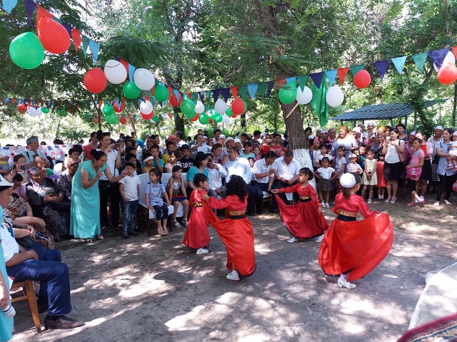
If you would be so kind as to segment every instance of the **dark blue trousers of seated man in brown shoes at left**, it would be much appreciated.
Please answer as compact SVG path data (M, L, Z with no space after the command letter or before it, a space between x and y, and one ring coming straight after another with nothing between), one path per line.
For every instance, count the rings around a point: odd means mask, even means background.
M69 269L61 262L55 249L33 249L39 260L29 259L7 266L6 273L15 281L40 281L39 298L48 298L49 316L61 316L71 311Z

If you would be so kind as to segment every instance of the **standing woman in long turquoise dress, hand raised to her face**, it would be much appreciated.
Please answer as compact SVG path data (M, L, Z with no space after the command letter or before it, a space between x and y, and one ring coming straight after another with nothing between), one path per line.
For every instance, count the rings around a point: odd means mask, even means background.
M100 177L105 174L114 183L126 175L125 172L119 177L111 174L105 152L92 150L91 155L92 160L81 162L71 184L70 234L85 239L87 243L94 237L103 239L100 234Z

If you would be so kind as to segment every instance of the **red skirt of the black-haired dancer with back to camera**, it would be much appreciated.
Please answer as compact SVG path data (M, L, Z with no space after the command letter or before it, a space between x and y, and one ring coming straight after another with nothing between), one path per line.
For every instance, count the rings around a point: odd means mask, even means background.
M232 270L232 263L242 276L250 276L256 269L254 252L254 233L252 224L244 219L219 219L204 203L206 216L211 226L224 242L227 250L227 268ZM227 209L226 209L227 210Z

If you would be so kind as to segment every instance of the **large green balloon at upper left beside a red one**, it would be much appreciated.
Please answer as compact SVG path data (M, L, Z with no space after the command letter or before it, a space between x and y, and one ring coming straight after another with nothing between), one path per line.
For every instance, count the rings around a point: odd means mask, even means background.
M9 56L21 68L34 69L43 63L43 44L33 32L19 34L9 44Z

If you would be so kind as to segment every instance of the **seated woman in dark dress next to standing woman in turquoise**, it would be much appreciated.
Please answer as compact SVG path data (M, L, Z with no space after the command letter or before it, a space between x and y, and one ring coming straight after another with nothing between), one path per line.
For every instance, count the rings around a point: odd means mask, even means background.
M64 190L49 178L45 178L38 167L27 171L30 182L26 184L26 195L34 213L46 222L46 227L60 242L61 236L70 231L70 202L64 201Z

